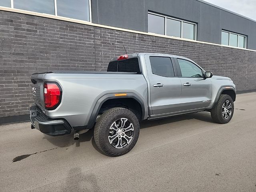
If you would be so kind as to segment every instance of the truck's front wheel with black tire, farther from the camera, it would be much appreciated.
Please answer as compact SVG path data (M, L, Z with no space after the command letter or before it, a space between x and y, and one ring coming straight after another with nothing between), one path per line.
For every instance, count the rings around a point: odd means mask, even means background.
M228 106L230 106L231 104L231 107L228 109L225 108L225 106L227 106L227 102L228 102ZM228 110L228 112L226 112L227 116L225 115L225 112L224 112L225 109ZM222 114L223 112L224 114ZM220 95L217 105L211 109L212 119L217 123L225 124L230 122L233 114L234 114L234 103L232 98L229 95L224 95L224 94Z

